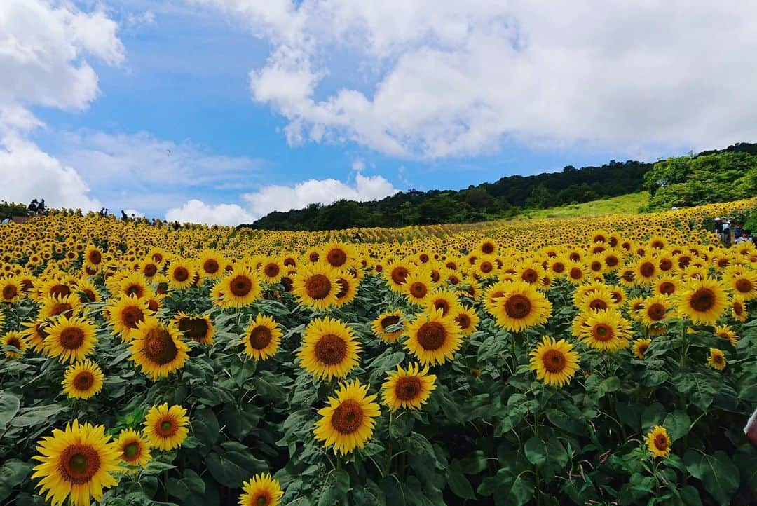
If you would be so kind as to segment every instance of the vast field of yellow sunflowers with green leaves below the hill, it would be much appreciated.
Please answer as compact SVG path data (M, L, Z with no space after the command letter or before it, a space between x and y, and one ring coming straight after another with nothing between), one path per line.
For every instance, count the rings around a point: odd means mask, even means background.
M755 206L2 225L0 503L755 504Z

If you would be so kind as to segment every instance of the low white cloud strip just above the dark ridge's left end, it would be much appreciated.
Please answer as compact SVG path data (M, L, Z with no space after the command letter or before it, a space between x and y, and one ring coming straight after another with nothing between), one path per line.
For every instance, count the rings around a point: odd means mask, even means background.
M253 193L244 194L245 206L189 200L171 209L166 219L179 222L200 222L218 225L250 223L271 211L301 209L311 203L329 204L337 200L378 200L397 193L381 175L365 176L357 173L354 185L337 179L310 179L294 186L267 185Z

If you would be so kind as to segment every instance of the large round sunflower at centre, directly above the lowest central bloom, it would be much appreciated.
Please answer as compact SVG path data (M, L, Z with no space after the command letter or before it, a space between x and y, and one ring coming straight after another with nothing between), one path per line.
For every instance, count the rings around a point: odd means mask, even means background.
M345 377L357 365L361 346L346 324L332 318L310 321L298 352L300 365L318 379Z

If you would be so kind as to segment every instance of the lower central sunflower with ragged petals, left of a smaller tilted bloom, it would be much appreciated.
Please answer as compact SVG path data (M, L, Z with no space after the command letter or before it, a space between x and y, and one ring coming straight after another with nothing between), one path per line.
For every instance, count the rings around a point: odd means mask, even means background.
M361 386L358 380L341 383L336 397L329 397L329 405L318 411L322 418L313 430L316 439L342 455L363 448L380 414L375 399L375 395L368 395L368 386Z

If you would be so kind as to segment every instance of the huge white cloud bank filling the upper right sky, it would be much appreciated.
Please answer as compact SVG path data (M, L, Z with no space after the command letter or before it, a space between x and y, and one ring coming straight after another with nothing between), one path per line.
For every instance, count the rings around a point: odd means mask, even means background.
M291 144L434 158L506 138L637 152L757 135L755 2L190 1L272 42L251 91Z

